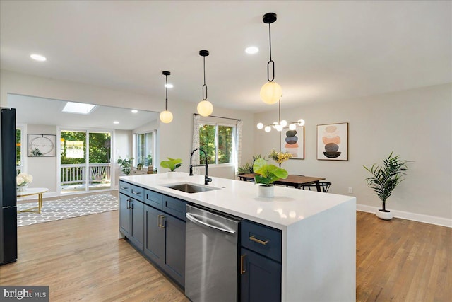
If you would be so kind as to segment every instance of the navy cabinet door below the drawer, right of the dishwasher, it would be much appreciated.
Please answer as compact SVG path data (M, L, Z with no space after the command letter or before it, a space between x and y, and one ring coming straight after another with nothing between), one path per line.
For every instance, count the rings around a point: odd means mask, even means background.
M281 301L281 265L246 248L240 250L240 301Z

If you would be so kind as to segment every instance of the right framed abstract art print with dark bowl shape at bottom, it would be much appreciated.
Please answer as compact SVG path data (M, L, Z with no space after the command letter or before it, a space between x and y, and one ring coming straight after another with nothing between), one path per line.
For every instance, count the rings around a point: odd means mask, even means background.
M348 161L348 123L317 125L317 159Z

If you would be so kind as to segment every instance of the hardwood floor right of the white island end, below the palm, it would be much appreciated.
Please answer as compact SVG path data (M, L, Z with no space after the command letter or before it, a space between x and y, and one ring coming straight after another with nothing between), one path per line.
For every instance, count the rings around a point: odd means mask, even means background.
M357 212L357 301L452 301L452 228Z

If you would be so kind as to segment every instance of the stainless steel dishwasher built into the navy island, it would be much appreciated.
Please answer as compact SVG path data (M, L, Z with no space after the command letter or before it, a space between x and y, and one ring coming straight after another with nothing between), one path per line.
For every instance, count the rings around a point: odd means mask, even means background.
M186 205L185 294L191 301L237 301L239 222Z

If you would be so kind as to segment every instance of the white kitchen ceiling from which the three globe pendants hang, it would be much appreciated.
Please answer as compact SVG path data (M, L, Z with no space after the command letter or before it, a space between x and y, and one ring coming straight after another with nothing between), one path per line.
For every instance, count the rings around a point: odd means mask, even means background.
M273 23L286 108L452 81L451 1L1 1L1 69L260 112ZM245 47L260 52L249 55ZM35 62L31 53L47 62Z

